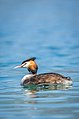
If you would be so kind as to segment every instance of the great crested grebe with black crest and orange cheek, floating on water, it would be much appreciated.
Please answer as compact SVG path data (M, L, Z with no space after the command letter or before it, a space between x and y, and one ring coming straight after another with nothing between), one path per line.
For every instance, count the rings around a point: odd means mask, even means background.
M21 80L21 85L28 84L65 84L71 85L72 80L70 77L65 77L58 73L42 73L37 74L38 66L35 62L35 57L27 59L21 65L15 68L27 68L30 74L25 75Z

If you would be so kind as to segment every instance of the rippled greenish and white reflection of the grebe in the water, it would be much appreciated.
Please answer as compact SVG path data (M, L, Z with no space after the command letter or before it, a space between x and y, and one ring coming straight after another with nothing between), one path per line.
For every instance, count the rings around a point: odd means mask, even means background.
M36 93L40 91L55 91L55 90L69 90L71 89L72 86L67 86L67 85L48 85L48 84L42 84L42 85L27 85L23 87L24 94L28 97L35 98L37 97Z

